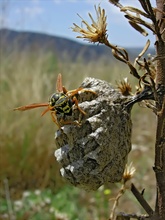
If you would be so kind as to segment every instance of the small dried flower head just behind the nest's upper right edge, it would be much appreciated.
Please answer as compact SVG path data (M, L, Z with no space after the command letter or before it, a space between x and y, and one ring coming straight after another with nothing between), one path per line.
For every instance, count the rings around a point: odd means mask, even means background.
M128 78L124 78L123 81L117 83L117 87L124 96L132 95L132 87Z

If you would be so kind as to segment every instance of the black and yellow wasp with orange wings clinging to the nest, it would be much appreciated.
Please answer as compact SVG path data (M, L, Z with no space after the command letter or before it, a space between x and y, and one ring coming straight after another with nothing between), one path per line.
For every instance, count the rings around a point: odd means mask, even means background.
M76 124L80 125L77 121L66 121L65 116L71 116L73 112L73 105L77 107L77 109L83 114L86 115L86 113L79 107L78 100L76 98L76 94L79 92L91 92L93 94L96 94L92 90L84 89L84 88L78 88L74 90L68 91L63 85L62 85L62 75L59 73L57 76L57 82L56 82L56 92L51 95L49 98L49 101L47 103L33 103L25 106L20 106L17 108L14 108L15 110L19 111L26 111L31 110L34 108L40 108L40 107L47 107L41 114L41 116L45 115L48 111L51 112L51 117L53 122L56 123L59 129L61 129L61 124ZM57 115L62 116L60 121L57 119Z

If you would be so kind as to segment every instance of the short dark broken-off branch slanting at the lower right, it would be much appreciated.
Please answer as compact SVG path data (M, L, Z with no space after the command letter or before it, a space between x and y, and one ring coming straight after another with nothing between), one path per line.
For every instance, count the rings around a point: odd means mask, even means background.
M136 199L139 201L143 209L147 212L147 214L149 216L152 216L154 211L152 210L152 208L149 206L149 204L144 199L143 195L137 190L137 188L134 186L133 183L131 184L131 191L136 197Z

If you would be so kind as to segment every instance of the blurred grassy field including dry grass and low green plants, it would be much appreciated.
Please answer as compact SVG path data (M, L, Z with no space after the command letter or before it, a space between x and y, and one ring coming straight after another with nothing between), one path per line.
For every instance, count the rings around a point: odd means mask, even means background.
M34 102L46 102L55 92L56 77L63 75L68 89L79 87L87 76L107 80L133 77L124 64L104 60L84 64L59 61L52 54L1 53L0 61L0 219L104 220L108 218L120 183L97 192L85 192L67 185L55 161L54 133L57 129L42 109L15 112L12 109ZM137 82L136 82L137 83ZM133 183L145 190L145 198L154 207L154 141L156 117L137 104L132 111ZM109 189L106 191L106 189ZM106 193L108 192L108 193ZM117 211L145 213L130 191L121 199Z

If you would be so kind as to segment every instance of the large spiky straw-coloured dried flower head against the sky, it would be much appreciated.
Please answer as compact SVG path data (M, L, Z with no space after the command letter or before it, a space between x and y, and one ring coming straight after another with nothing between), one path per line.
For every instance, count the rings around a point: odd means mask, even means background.
M92 21L91 25L89 25L83 18L80 17L82 19L82 23L85 24L86 29L78 26L75 23L73 23L74 27L71 28L74 32L78 32L82 35L77 36L77 38L84 38L85 40L93 43L103 43L107 38L107 16L105 16L105 10L101 9L100 6L98 6L98 8L95 6L95 11L97 15L97 21L95 21L92 15L89 13L89 17Z

